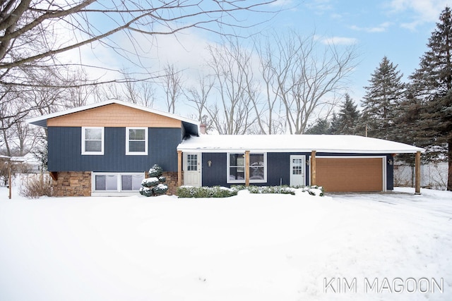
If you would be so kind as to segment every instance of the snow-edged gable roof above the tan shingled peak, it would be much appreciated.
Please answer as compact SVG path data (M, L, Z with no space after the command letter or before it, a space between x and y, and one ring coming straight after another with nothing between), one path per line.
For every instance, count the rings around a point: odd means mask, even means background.
M67 115L67 114L76 113L76 112L80 112L80 111L85 111L85 110L89 110L89 109L94 109L94 108L97 108L99 106L106 106L108 104L121 104L122 106L129 106L129 107L131 107L133 109L138 109L138 110L141 110L141 111L147 111L147 112L150 112L150 113L155 113L155 114L166 116L166 117L169 117L169 118L174 118L174 119L177 119L177 120L185 122L185 123L190 123L190 124L199 126L199 122L198 121L194 121L194 120L189 119L189 118L184 118L184 117L172 114L172 113L167 113L167 112L164 112L164 111L151 109L151 108L148 108L147 106L139 106L138 104L132 104L131 102L122 102L122 101L116 100L116 99L110 99L110 100L107 100L105 102L97 102L95 104L88 104L86 106L78 106L77 108L69 109L69 110L66 110L66 111L61 111L61 112L57 112L57 113L50 113L50 114L47 114L47 115L43 115L43 116L39 116L39 117L35 117L35 118L30 118L30 119L27 120L27 122L31 123L31 124L34 124L34 125L39 125L39 126L42 126L42 127L45 128L45 127L47 127L47 119L55 118L55 117L59 117L59 116L64 116L64 115Z

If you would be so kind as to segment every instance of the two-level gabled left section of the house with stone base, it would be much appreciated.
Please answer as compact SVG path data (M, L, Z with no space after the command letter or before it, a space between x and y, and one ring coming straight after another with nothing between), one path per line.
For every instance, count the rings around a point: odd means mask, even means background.
M57 196L138 192L145 172L162 166L177 188L177 145L198 122L119 101L32 118L47 128L48 171Z

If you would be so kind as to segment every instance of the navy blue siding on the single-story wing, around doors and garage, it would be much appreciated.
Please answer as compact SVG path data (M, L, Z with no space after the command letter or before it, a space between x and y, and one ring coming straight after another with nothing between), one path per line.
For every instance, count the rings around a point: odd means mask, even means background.
M267 183L252 183L252 185L290 185L290 156L304 155L306 159L311 159L311 153L287 152L287 153L267 153ZM317 153L316 156L386 156L386 188L393 190L394 174L390 154L333 154ZM203 153L203 186L221 185L230 187L227 183L227 153ZM208 167L207 162L212 161L212 166ZM306 183L309 184L309 165L305 170ZM233 185L233 184L232 184Z

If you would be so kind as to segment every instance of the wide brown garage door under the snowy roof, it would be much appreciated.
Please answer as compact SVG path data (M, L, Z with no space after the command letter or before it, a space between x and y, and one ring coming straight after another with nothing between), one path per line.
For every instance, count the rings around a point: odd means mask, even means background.
M382 158L316 158L317 184L326 192L383 191Z

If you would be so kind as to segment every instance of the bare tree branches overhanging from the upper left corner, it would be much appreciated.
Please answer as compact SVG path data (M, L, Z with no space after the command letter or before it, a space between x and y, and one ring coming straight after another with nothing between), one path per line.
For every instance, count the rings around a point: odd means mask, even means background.
M94 42L140 65L140 58L133 56L141 51L138 36L155 44L159 35L191 27L224 34L226 27L252 25L234 18L235 13L263 11L274 1L1 1L0 82L35 85L16 69L58 66L55 55ZM63 37L59 32L71 34ZM130 47L114 39L118 32L126 35Z

